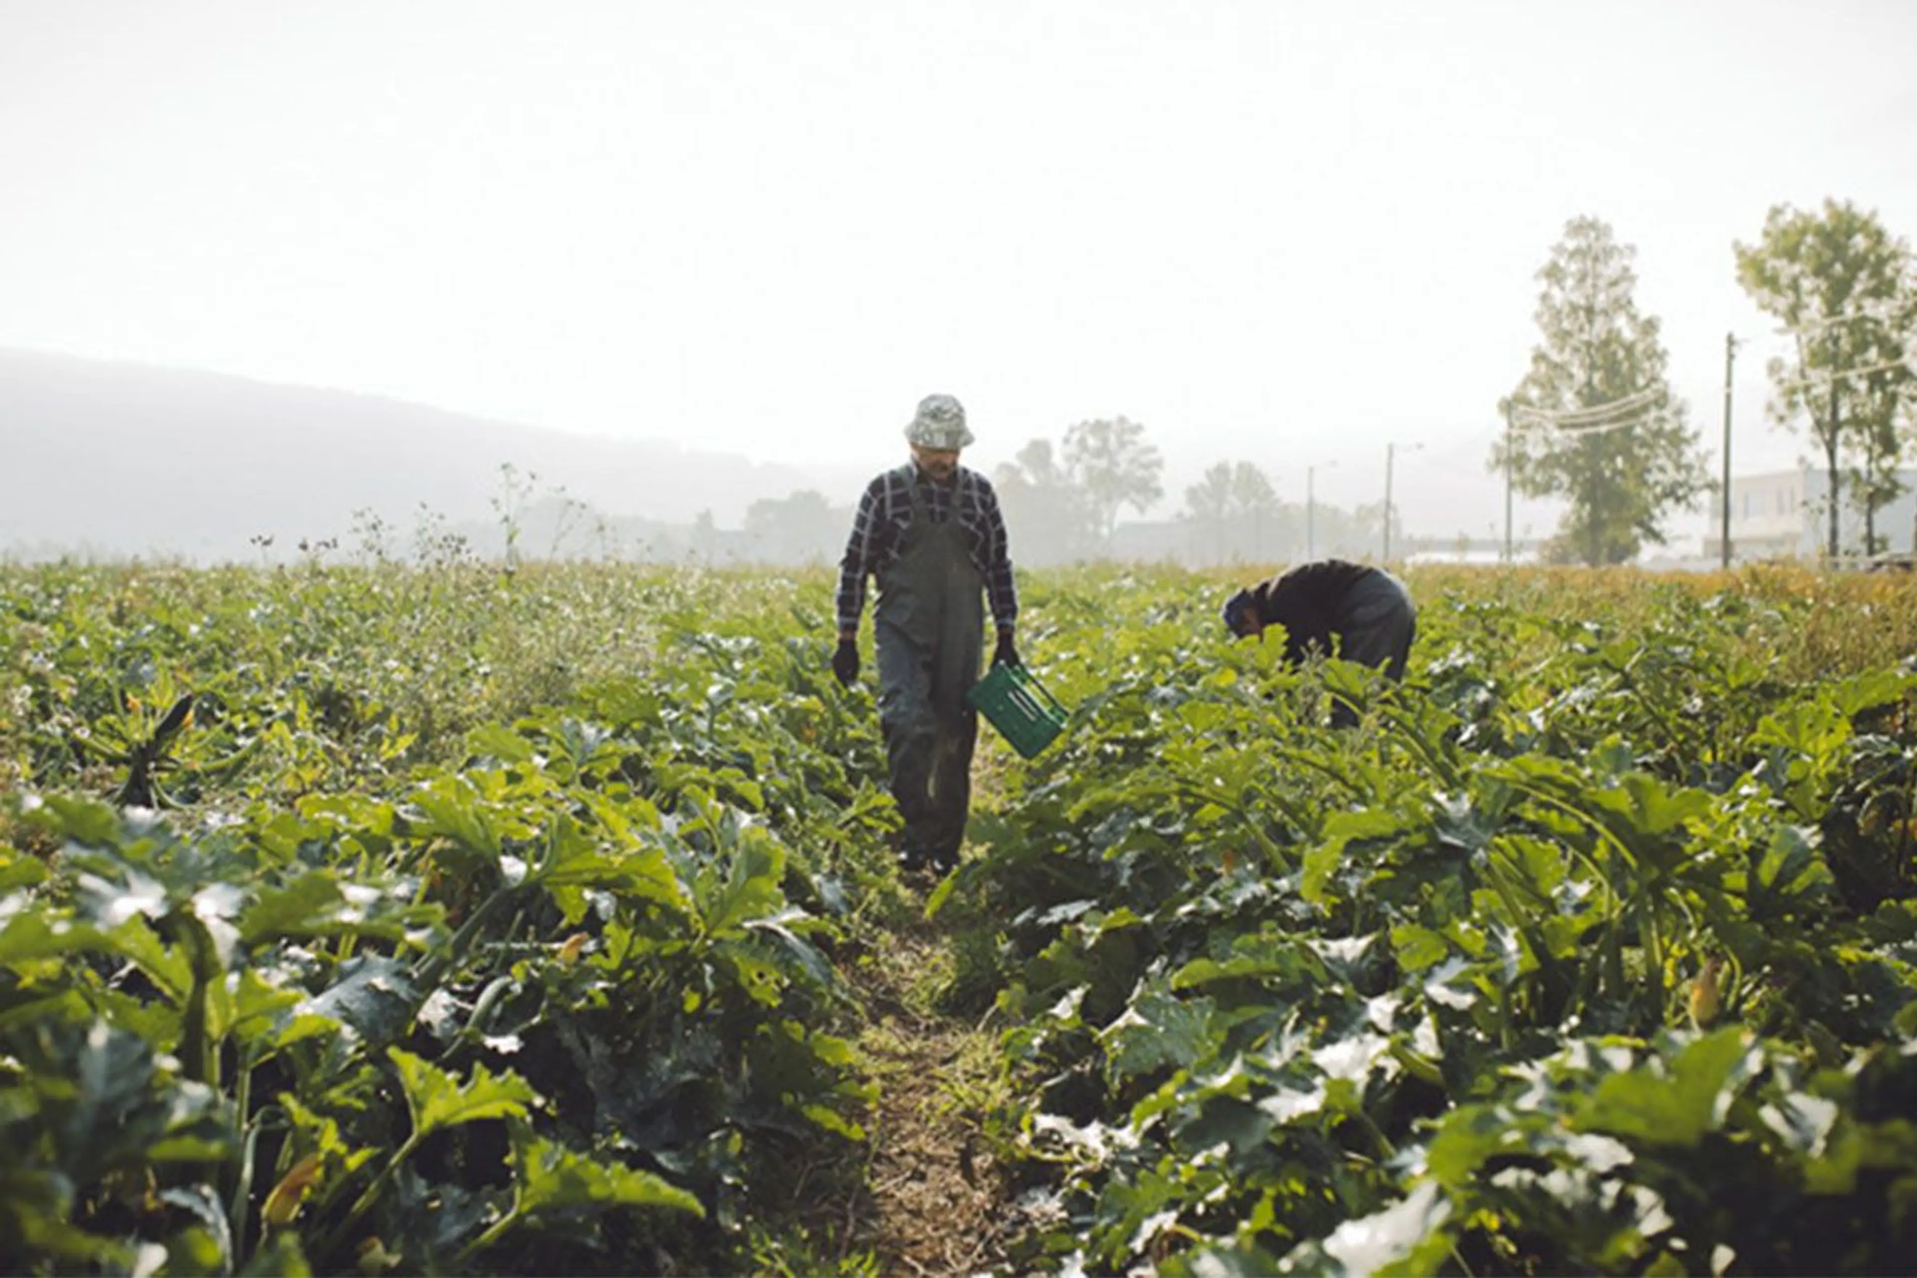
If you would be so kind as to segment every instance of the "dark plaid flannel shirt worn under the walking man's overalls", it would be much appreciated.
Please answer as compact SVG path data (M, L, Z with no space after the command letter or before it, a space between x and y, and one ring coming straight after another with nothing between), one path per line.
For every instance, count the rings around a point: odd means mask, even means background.
M840 634L857 634L865 613L865 579L891 567L905 544L905 529L912 521L911 485L918 477L912 462L889 469L866 485L859 498L859 513L851 521L851 540L840 559L838 621ZM918 481L920 500L932 523L945 523L957 506L958 523L966 531L972 565L985 579L985 598L999 630L1010 630L1018 621L1018 588L1012 584L1012 559L1006 548L1005 515L991 481L958 468L953 483Z

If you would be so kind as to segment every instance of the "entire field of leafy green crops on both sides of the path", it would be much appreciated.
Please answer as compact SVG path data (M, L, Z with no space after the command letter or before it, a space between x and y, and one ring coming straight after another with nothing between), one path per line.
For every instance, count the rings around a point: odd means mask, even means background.
M1022 581L930 885L826 573L0 567L0 1268L924 1268L930 937L966 1267L1907 1272L1917 588L1428 569L1388 692L1227 581Z

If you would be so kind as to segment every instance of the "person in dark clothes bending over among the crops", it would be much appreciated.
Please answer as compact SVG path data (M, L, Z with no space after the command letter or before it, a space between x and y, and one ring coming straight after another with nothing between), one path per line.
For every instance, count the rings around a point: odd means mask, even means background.
M1238 638L1284 627L1284 661L1302 665L1311 651L1338 655L1392 680L1405 676L1405 659L1419 630L1405 584L1382 567L1323 559L1240 590L1225 602L1225 627ZM1355 717L1340 705L1334 724Z

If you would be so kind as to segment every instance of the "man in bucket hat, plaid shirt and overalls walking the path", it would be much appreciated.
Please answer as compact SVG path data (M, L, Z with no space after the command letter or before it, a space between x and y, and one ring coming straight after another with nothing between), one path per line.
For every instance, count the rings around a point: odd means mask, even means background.
M840 561L832 673L847 688L859 678L865 579L874 575L878 724L891 797L905 816L899 860L949 870L958 864L972 805L978 711L966 692L983 651L982 594L999 627L991 659L1018 665L1018 592L999 496L983 475L958 466L958 450L972 443L964 408L951 395L928 395L905 439L911 462L866 485L853 517Z

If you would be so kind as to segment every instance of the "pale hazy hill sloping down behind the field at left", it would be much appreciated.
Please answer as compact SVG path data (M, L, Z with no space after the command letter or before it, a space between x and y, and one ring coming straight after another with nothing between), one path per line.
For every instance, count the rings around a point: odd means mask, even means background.
M0 554L257 559L341 538L378 513L404 546L422 506L497 521L500 466L594 512L736 527L757 498L863 483L667 441L491 422L422 404L243 377L0 349Z

